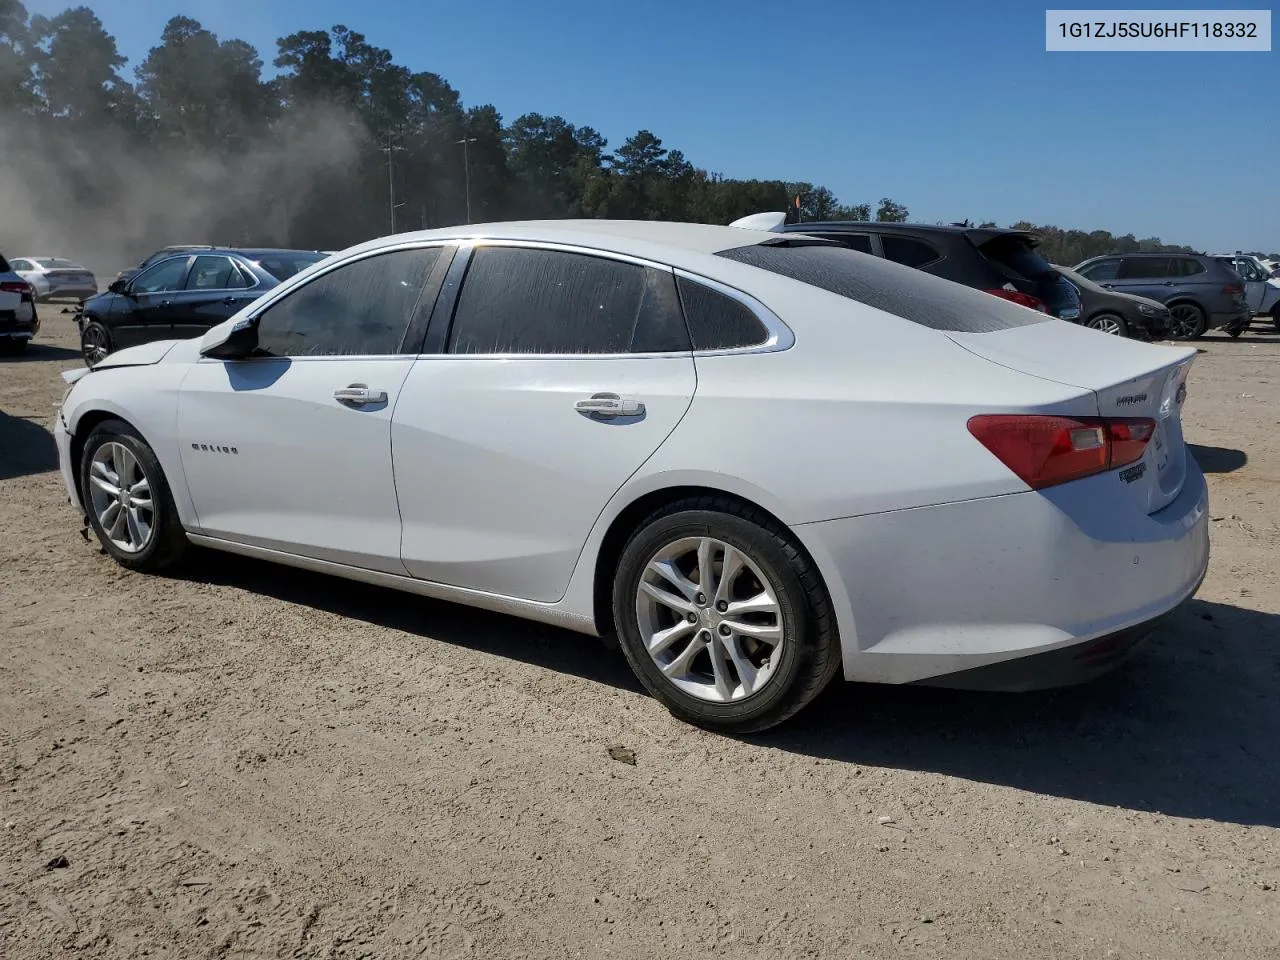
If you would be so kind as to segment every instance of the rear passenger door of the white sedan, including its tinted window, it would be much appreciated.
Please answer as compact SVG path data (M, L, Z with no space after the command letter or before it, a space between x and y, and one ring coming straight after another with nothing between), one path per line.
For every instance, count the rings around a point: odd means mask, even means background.
M689 410L689 330L669 268L497 242L465 257L452 325L442 297L392 424L404 566L554 602Z

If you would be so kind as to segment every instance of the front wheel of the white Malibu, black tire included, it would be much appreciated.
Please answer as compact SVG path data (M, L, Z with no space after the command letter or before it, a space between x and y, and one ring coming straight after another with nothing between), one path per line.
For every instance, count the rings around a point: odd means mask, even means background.
M160 461L123 420L105 420L90 431L79 477L90 526L122 567L152 573L191 549Z

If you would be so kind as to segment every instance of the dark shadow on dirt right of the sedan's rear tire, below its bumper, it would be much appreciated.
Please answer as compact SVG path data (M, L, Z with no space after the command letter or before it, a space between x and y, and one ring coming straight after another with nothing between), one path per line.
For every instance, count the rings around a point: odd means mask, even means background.
M1280 827L1280 616L1193 600L1114 673L1029 694L832 684L763 742L1172 817Z

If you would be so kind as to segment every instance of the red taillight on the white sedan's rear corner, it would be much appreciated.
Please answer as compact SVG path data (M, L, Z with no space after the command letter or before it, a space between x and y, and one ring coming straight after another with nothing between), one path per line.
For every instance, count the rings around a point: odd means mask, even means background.
M969 433L1033 490L1079 480L1139 460L1156 421L983 413Z

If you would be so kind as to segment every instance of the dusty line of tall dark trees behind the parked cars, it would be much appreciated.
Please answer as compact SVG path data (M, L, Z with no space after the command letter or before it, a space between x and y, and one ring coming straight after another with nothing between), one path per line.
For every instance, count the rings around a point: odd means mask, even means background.
M508 123L346 26L282 37L271 65L174 17L129 78L90 8L32 17L0 0L0 191L14 197L0 244L119 257L175 242L335 250L467 219L909 216L890 197L845 205L820 184L722 177L650 131L611 150L562 116ZM1039 230L1059 262L1165 248Z

